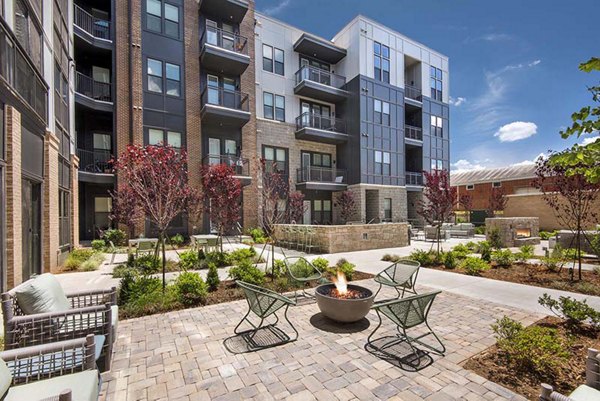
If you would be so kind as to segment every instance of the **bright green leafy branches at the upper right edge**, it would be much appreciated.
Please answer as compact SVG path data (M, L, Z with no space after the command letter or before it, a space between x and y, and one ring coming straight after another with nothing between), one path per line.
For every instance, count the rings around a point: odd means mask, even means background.
M580 64L579 69L587 73L600 71L600 58L591 58ZM592 94L592 101L600 103L600 82L589 87L588 91ZM571 120L571 126L560 131L563 138L597 135L600 132L600 105L581 108L571 115ZM574 145L567 151L554 154L550 160L552 165L566 169L567 175L583 175L591 183L600 183L600 137L587 146Z

